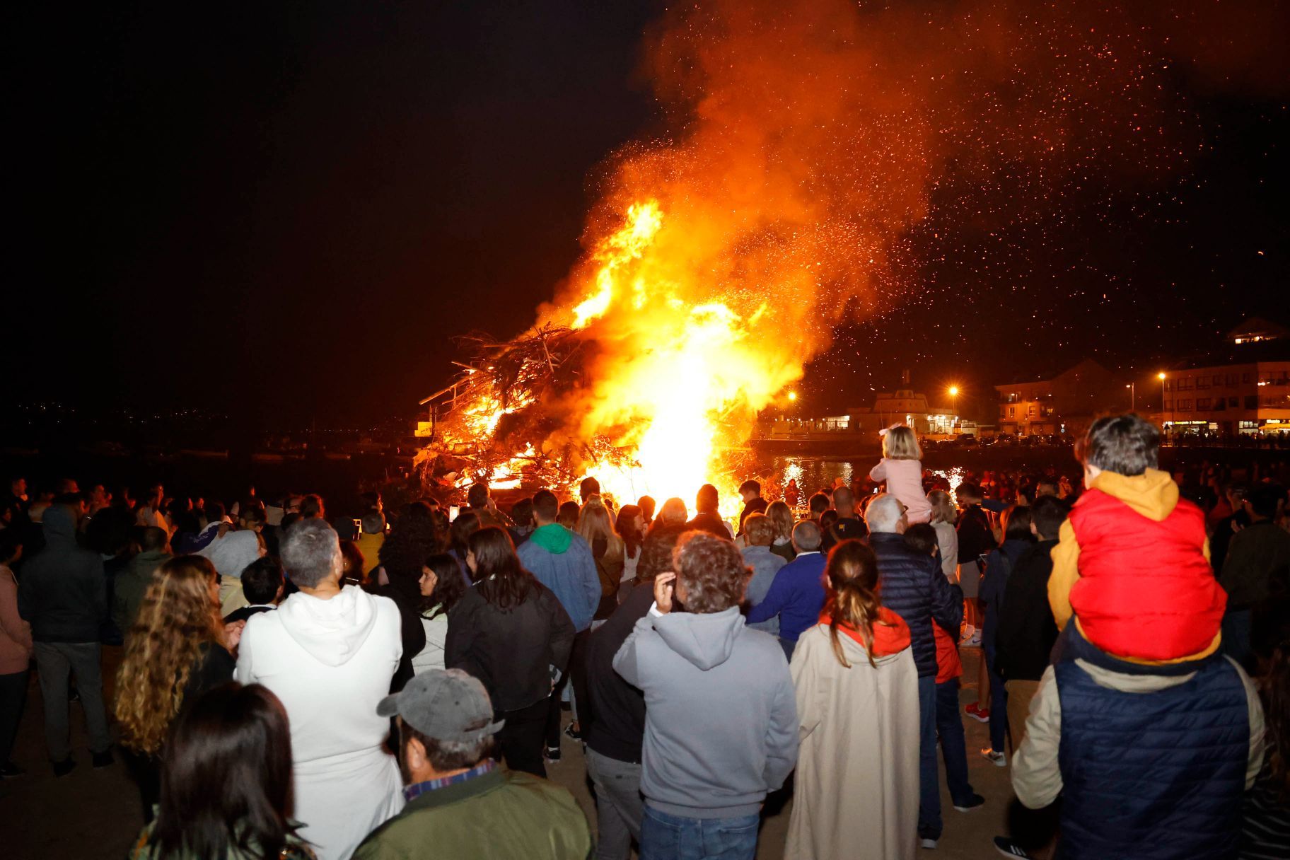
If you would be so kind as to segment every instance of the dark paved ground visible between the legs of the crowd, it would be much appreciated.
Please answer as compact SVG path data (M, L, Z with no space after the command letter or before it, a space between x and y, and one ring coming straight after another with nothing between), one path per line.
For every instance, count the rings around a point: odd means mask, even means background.
M975 699L978 649L964 649L964 691L966 704ZM120 649L104 649L104 678L111 677L120 660ZM106 691L108 696L111 690ZM27 709L13 759L27 768L27 776L0 783L0 833L5 850L0 855L14 860L121 860L143 824L138 792L117 763L110 768L93 770L85 747L84 721L79 705L72 705L72 744L79 767L55 780L45 759L41 735L43 707L35 678L27 698ZM934 857L983 859L996 857L991 839L1001 833L1004 812L1011 789L1007 768L995 767L977 756L988 745L986 726L966 719L968 766L973 787L986 797L986 806L968 814L953 811L944 790L942 772L942 803L946 812L946 830L937 851L921 851ZM551 779L560 783L578 798L588 820L595 826L596 815L584 779L579 744L565 740L564 761L552 766ZM855 798L863 803L864 798ZM773 806L773 805L768 805ZM783 855L784 834L788 829L789 801L782 810L768 815L757 851L760 860L778 860ZM14 854L9 854L14 850Z

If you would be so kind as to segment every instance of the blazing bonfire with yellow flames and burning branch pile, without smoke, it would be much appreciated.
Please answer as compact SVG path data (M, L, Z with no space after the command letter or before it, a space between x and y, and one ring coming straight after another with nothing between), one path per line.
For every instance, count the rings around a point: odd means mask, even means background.
M579 302L510 342L466 339L471 361L442 392L426 468L494 487L593 474L620 502L691 498L712 481L733 500L757 410L801 362L768 366L768 298L697 300L675 280L659 253L666 218L657 200L630 205L591 254Z

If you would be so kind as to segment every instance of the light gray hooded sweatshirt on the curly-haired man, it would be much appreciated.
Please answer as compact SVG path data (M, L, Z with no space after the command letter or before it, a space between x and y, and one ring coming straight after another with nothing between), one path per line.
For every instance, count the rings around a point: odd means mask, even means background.
M645 692L641 794L691 819L755 815L797 763L797 703L774 637L722 612L650 614L614 656Z

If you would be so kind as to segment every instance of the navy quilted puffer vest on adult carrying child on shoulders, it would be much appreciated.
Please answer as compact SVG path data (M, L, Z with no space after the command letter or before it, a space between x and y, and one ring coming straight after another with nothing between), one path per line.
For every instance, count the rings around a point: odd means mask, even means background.
M1067 629L1073 628L1069 625ZM1063 860L1236 857L1250 714L1240 672L1215 655L1183 664L1195 677L1152 692L1103 687L1075 658L1126 674L1143 667L1064 636L1054 665L1062 701Z

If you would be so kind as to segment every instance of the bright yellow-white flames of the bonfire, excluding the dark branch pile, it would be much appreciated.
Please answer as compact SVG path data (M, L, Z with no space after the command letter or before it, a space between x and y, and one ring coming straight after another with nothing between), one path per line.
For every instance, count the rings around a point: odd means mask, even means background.
M578 432L610 436L635 450L635 464L600 462L588 474L620 503L645 494L690 502L700 484L713 482L722 512L733 513L739 500L721 455L747 438L756 411L801 366L768 362L765 299L689 298L695 290L675 268L684 260L664 250L668 230L657 200L630 205L626 223L592 255L584 298L550 318L610 344L613 366L591 373Z

